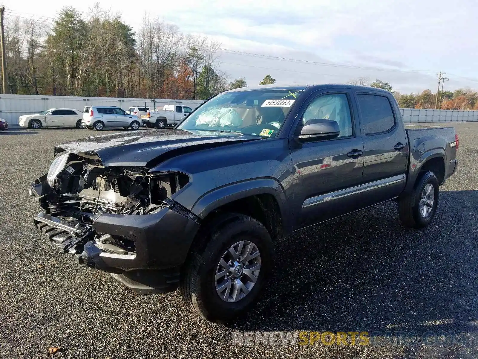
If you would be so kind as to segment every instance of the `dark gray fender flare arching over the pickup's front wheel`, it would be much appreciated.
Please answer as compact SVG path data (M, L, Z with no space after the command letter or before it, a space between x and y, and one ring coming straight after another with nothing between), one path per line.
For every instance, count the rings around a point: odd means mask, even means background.
M276 179L272 178L248 179L206 192L194 203L191 212L199 218L205 218L217 207L258 194L272 194L274 196L281 211L284 230L289 228L290 216L287 214L289 211L287 210L287 198L284 189Z

